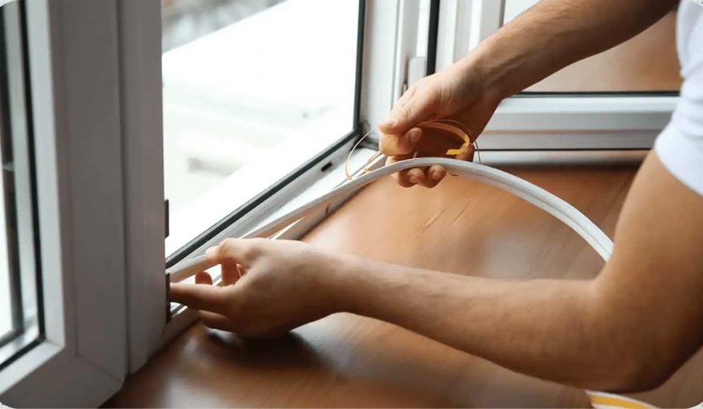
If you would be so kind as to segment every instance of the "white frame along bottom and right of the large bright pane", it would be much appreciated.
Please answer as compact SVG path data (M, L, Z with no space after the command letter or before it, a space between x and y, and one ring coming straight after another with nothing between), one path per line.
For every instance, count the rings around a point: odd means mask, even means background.
M366 0L364 8L359 136L368 132L371 124L381 121L387 115L406 88L408 61L415 55L416 50L419 3L411 0ZM334 152L330 152L326 159L321 161L321 166L343 163L347 159L349 149L352 149L353 142L354 140L349 140ZM226 237L242 236L250 232L322 176L320 166L309 168L299 175L295 182L283 187L250 211L246 217L237 220L223 232L203 243L188 258L201 255L207 247ZM280 237L299 238L346 199L348 196L338 198L323 212L306 217ZM194 319L195 314L192 311L178 311L162 333L160 344L172 339Z

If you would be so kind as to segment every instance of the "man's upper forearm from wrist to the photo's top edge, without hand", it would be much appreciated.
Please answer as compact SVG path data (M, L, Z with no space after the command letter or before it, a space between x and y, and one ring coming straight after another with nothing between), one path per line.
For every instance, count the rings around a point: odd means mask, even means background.
M507 98L572 62L630 39L678 0L542 0L458 62Z

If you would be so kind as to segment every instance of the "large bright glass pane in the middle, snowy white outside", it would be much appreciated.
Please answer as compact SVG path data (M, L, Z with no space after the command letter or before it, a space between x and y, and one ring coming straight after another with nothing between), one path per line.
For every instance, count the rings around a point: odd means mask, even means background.
M349 134L359 0L163 0L167 255Z

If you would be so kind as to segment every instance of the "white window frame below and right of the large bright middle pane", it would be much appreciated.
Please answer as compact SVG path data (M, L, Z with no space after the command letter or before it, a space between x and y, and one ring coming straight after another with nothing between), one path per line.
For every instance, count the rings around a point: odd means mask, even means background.
M202 240L197 247L189 249L186 257L167 260L167 267L180 260L187 260L205 252L209 246L226 237L241 236L250 232L257 224L271 215L283 203L295 198L298 192L312 185L323 174L329 163L339 164L347 159L354 142L366 134L369 123L380 121L400 97L406 81L407 62L415 53L417 41L416 22L418 2L408 0L361 0L359 14L359 43L357 44L357 80L354 119L355 129L338 140L335 145L322 152L312 161L286 176L281 184L268 193L247 203L246 212L233 217L233 222L214 236ZM393 52L389 53L389 49ZM389 86L388 84L392 84ZM330 208L340 206L346 200L340 198ZM285 238L297 239L325 217L326 213L306 217ZM170 318L160 344L164 344L187 328L197 315L194 311L179 310Z

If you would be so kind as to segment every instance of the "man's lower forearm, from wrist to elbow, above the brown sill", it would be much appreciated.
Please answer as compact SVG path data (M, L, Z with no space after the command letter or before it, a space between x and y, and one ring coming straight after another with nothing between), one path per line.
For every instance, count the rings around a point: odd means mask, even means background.
M354 263L349 264L354 265ZM345 284L350 312L395 323L498 363L579 387L619 389L593 310L592 281L497 281L361 261ZM612 354L612 356L608 356ZM622 377L628 377L627 368Z

